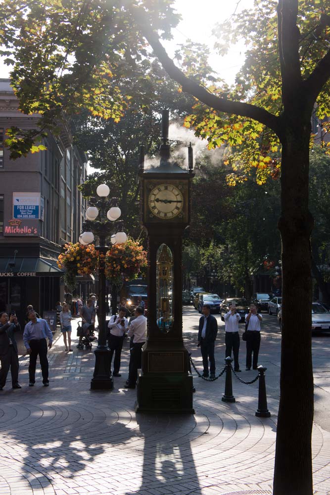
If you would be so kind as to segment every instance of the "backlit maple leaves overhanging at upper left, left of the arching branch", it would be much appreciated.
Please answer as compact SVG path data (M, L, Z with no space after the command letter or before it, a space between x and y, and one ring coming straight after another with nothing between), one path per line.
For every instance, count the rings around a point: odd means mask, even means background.
M153 29L169 38L178 22L171 2L139 3ZM40 131L11 130L11 158L26 154L45 129L54 131L79 109L121 119L132 99L123 83L135 72L139 86L148 55L130 2L1 0L0 18L2 54L7 63L15 60L11 84L20 110L40 115Z

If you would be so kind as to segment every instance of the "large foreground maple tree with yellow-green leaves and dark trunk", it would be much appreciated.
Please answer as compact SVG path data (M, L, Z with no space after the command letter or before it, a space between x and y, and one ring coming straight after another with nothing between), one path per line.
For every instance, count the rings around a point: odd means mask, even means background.
M167 55L159 37L169 37L178 21L169 0L0 3L0 42L9 60L12 54L16 60L12 84L20 108L41 115L40 130L8 131L12 157L38 148L47 128L56 132L63 112L87 107L119 120L130 104L121 85L127 69L143 78L140 63L152 55L145 40L182 91L198 100L186 125L210 147L236 146L245 169L256 168L261 183L267 174L278 175L281 152L283 333L274 495L313 492L308 174L311 116L330 113L327 9L323 0L259 0L233 17L236 30L230 23L219 27L218 36L227 36L219 39L219 51L238 36L248 45L232 89L208 77L200 50L202 70L191 64L191 50L183 52L184 70ZM237 155L228 160L238 170ZM237 180L244 178L234 173L233 183Z

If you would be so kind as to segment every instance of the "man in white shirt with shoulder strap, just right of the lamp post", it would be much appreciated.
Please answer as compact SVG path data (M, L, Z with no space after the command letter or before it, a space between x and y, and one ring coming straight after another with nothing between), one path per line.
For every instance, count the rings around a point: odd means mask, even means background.
M108 339L108 347L110 349L110 369L113 353L115 357L113 360L113 376L121 376L120 370L120 357L121 350L124 342L124 333L126 332L128 326L128 320L125 318L126 309L123 307L119 308L118 316L113 314L108 323L108 328L110 329L110 335Z

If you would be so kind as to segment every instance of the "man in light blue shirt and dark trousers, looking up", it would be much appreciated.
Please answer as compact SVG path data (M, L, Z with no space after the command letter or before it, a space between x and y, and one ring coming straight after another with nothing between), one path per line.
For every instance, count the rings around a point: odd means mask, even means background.
M23 341L28 354L30 354L29 364L29 387L33 387L36 382L36 364L39 355L41 372L43 375L43 384L48 387L48 359L47 359L47 338L49 341L48 348L51 348L53 334L46 320L37 318L36 311L32 309L28 314L29 323L25 325Z

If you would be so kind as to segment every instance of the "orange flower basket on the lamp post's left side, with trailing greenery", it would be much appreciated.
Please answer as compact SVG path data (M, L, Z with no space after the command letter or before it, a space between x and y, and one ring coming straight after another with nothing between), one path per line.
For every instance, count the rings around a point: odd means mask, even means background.
M57 265L65 270L64 284L73 291L77 285L77 275L90 275L98 267L98 251L94 244L83 246L80 243L67 243L65 251L58 256Z

